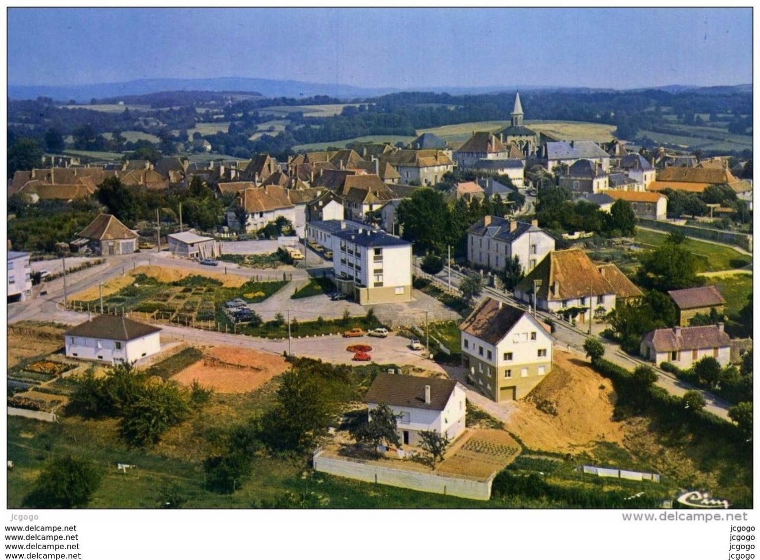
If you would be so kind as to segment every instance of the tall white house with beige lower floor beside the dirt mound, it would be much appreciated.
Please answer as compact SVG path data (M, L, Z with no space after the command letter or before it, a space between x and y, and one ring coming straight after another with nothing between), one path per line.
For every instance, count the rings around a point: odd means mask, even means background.
M494 401L523 398L552 370L549 329L518 307L486 297L459 330L462 366Z

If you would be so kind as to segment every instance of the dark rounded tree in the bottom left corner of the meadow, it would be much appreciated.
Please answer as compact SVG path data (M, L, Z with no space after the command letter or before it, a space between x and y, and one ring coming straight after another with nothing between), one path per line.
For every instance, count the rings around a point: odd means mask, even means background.
M27 508L84 508L100 486L100 473L81 458L64 455L43 467L33 491L24 498Z

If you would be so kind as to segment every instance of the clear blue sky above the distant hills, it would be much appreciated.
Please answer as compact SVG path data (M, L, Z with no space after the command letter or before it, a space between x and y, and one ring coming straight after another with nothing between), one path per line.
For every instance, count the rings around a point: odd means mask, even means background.
M361 87L752 82L752 10L12 8L8 82L260 77Z

